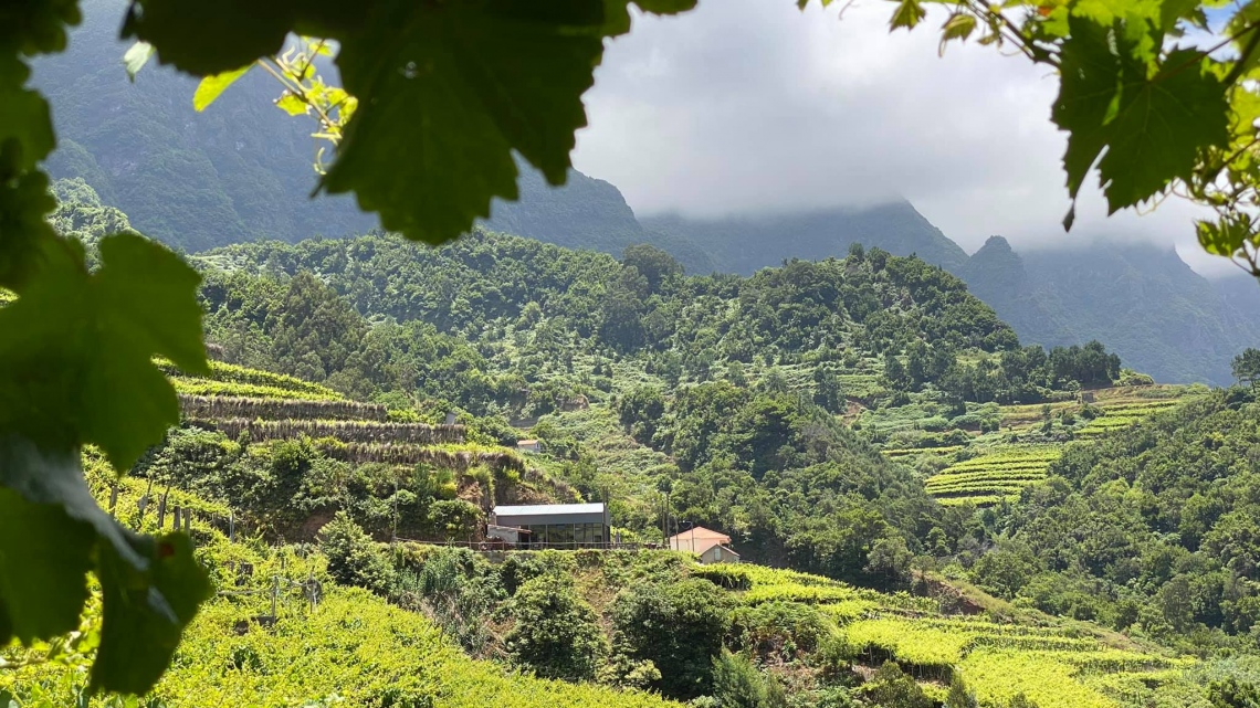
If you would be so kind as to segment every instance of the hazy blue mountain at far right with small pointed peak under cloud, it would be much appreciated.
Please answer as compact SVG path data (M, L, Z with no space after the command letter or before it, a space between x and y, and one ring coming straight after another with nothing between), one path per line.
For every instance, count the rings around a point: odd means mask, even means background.
M1226 296L1174 251L1092 242L1016 253L990 238L956 271L1026 341L1097 339L1158 380L1232 380L1230 359L1260 341L1260 285ZM1247 300L1250 297L1251 300Z

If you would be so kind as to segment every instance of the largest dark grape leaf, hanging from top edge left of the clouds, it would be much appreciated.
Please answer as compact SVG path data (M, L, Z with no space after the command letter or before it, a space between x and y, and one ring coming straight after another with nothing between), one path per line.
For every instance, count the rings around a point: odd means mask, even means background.
M323 188L441 243L489 215L491 197L517 198L513 149L563 183L604 50L601 6L566 5L406 4L374 18L338 57L359 108Z

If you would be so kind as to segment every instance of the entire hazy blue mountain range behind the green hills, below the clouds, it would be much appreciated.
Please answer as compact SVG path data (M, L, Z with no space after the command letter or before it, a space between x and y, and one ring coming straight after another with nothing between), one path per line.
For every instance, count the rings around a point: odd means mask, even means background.
M146 67L127 82L108 0L84 4L64 54L37 62L34 83L62 106L54 176L81 178L146 236L188 252L258 239L296 242L364 233L375 220L353 200L307 199L311 125L272 106L280 86L260 72L209 110L194 82ZM62 98L58 101L58 98ZM616 186L576 170L549 188L524 169L522 199L496 202L490 231L620 257L650 243L688 273L751 275L791 258L843 257L852 243L917 254L966 281L1026 343L1102 341L1159 380L1231 380L1230 359L1260 341L1260 286L1208 282L1174 253L1081 246L1016 254L1004 239L973 257L906 202L762 217L636 218Z

